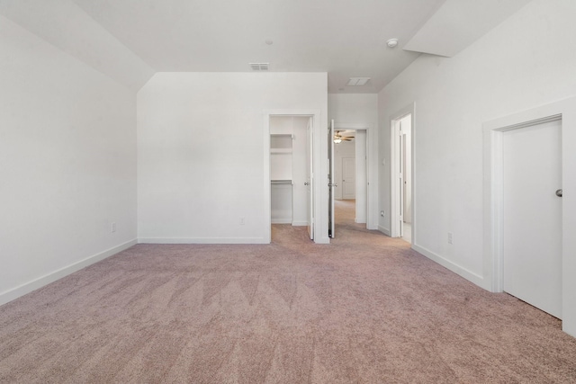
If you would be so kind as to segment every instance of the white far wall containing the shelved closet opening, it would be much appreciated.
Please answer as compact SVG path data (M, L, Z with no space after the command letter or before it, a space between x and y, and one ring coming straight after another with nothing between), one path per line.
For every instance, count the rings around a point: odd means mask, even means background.
M325 73L153 76L138 94L139 241L266 242L263 113L318 109L326 127L326 89Z

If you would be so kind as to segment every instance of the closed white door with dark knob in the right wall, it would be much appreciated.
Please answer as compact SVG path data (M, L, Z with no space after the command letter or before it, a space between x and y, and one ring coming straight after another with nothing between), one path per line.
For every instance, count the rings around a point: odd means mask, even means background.
M562 318L562 121L502 133L503 289Z

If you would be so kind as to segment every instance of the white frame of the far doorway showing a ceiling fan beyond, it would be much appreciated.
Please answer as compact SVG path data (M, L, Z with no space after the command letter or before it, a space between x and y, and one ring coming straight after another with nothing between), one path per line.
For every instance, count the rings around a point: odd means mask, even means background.
M366 200L366 228L378 229L378 132L373 124L357 122L334 122L335 130L366 130L366 180L368 198Z

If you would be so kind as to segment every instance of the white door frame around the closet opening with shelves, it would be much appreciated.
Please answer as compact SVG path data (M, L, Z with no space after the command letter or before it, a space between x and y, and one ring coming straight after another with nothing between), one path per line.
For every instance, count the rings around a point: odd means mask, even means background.
M326 191L326 188L322 188L320 177L317 177L320 172L320 153L322 152L319 129L320 129L320 116L321 110L305 110L305 109L279 109L279 110L265 110L263 112L264 118L264 129L263 129L263 140L264 140L264 240L265 243L270 243L272 241L272 217L271 217L271 198L270 198L270 117L271 116L300 116L300 117L311 117L312 119L312 170L311 175L311 186L312 186L312 199L314 200L313 207L313 225L314 225L314 242L315 243L328 243L327 237L320 237L322 233L322 226L326 226L326 222L321 218L321 193ZM323 131L323 130L322 130ZM323 138L323 135L322 135ZM327 185L328 187L328 185ZM326 233L328 235L328 228L326 228Z

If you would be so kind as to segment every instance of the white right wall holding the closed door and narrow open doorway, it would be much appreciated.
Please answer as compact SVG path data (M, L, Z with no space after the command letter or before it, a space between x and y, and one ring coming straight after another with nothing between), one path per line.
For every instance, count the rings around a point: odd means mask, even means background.
M414 248L484 288L490 281L482 268L482 122L576 94L574 14L572 0L535 0L454 58L421 56L379 94L386 160L381 207L390 211L390 121L415 103ZM564 166L576 165L574 155L564 156ZM576 175L576 169L564 173ZM563 203L564 223L575 227L576 213L566 211L568 193ZM380 225L390 228L390 216ZM448 232L454 245L447 244ZM576 265L572 270L576 281ZM563 315L572 334L573 312Z

